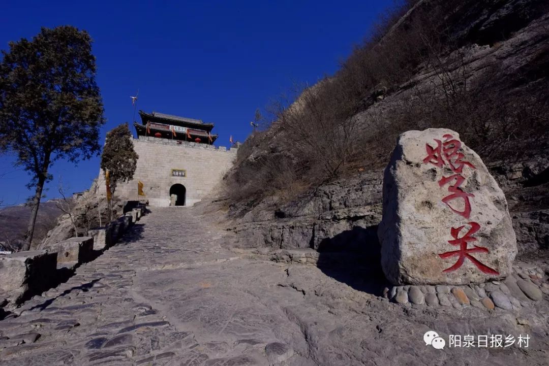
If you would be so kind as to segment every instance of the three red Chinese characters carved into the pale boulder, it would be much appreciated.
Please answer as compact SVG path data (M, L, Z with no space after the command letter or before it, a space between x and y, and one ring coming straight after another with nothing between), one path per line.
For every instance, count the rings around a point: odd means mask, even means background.
M461 188L461 185L465 181L465 178L461 174L463 172L463 167L465 167L466 165L467 167L472 169L477 168L475 168L473 164L463 160L465 155L460 151L461 141L454 139L453 136L450 134L445 134L442 137L445 139L444 142L435 139L436 147L425 144L427 157L423 159L423 163L433 164L437 168L442 168L447 165L452 170L454 174L450 176L443 176L439 180L440 187L449 184L451 181L455 180L455 183L448 187L448 192L450 193L450 195L442 198L442 202L446 203L446 205L458 215L469 219L471 214L471 204L469 198L474 197L474 195L472 193L464 192ZM463 199L463 210L457 210L450 205L450 202L456 199ZM451 228L450 232L453 240L450 240L448 242L452 245L459 245L460 249L447 251L446 253L439 254L439 256L442 259L450 258L452 256L458 256L458 260L455 264L453 264L449 268L446 268L446 270L442 272L455 271L463 265L465 259L469 259L475 266L477 266L477 268L479 268L480 271L488 274L499 274L496 270L486 266L470 254L489 253L489 250L488 248L478 247L477 245L473 245L474 248L467 248L469 242L477 241L477 238L473 237L473 234L480 229L480 225L477 222L469 222L469 225L471 226L471 228L461 238L458 236L465 226Z

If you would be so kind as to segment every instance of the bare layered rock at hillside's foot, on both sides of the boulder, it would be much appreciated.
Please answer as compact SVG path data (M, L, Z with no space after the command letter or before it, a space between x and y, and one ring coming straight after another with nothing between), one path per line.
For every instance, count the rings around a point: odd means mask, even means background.
M543 167L549 167L549 162L538 158L513 166L516 169L489 164L508 201L518 255L548 256L549 184L529 187L528 182L544 175ZM365 171L278 207L263 202L244 217L227 221L226 226L238 234L243 248L379 248L382 187L383 171Z

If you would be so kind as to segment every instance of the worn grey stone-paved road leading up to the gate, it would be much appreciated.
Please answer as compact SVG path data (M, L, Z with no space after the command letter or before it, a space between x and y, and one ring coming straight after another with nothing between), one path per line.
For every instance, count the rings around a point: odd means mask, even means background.
M232 241L192 209L153 209L121 243L0 322L0 364L547 364L546 302L521 314L401 306L368 293L364 268L273 261L231 250ZM435 350L422 341L430 329L531 340L528 349Z

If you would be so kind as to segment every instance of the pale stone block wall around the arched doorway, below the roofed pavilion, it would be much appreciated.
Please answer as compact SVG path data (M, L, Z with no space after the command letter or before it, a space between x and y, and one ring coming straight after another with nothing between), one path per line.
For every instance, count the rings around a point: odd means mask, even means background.
M195 142L139 136L133 139L139 159L130 182L119 184L115 195L128 201L138 199L137 181L152 206L170 205L170 187L181 184L186 189L185 205L193 205L206 197L233 165L237 149ZM185 176L173 176L172 169L184 170ZM182 173L180 173L181 175ZM99 173L99 189L105 194L103 172Z

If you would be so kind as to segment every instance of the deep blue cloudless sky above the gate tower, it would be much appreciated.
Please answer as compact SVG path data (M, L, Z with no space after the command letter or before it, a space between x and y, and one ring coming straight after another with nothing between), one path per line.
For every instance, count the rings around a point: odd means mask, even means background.
M0 49L31 38L41 26L73 25L93 38L105 133L131 122L138 108L215 123L216 145L244 141L256 108L294 83L334 73L392 1L12 1L0 5ZM136 116L138 118L138 116ZM135 131L132 128L132 132ZM0 159L0 201L25 202L29 177ZM46 199L59 178L70 192L86 190L99 157L50 169Z

